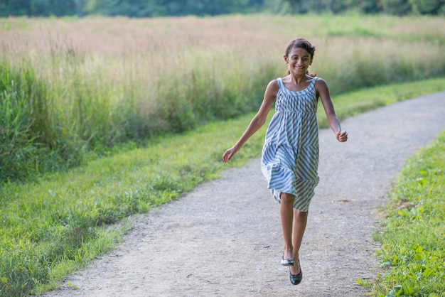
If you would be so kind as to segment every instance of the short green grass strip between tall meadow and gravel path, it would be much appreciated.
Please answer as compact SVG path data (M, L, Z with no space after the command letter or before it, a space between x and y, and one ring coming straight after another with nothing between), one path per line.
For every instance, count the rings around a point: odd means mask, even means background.
M390 85L333 100L345 118L410 95L444 90L444 82ZM358 98L368 102L366 108ZM119 244L131 228L130 215L149 212L205 180L218 178L228 166L242 166L259 157L266 125L229 165L221 158L252 116L214 122L183 135L156 137L144 148L130 145L120 153L65 173L43 175L32 183L4 184L0 188L0 296L55 288L64 276Z

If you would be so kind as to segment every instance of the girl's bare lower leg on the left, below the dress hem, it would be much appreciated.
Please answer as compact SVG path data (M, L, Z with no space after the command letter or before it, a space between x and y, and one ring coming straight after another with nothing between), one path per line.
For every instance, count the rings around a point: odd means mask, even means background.
M294 220L294 195L282 193L279 212L282 218L282 229L284 237L284 259L294 259L292 249L292 220ZM296 261L296 259L295 259Z

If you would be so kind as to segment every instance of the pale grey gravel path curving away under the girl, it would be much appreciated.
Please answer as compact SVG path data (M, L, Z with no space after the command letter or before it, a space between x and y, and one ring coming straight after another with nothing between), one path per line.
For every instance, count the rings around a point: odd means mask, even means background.
M445 129L445 92L342 124L346 144L320 131L321 181L301 247L299 286L279 264L279 206L255 159L135 218L119 249L46 296L365 296L355 281L377 274L375 211L406 158Z

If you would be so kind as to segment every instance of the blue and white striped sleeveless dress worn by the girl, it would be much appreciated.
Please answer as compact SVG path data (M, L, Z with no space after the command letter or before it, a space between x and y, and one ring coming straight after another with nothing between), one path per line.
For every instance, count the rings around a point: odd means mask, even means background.
M262 173L267 188L281 203L279 195L295 195L294 208L308 211L318 185L317 98L313 77L306 89L287 90L278 78L275 114L267 128L262 149Z

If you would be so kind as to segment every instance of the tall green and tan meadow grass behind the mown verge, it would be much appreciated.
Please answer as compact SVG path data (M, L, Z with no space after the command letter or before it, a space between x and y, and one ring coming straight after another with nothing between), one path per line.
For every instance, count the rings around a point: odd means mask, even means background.
M291 38L333 95L445 76L443 18L0 19L0 181L256 110Z

